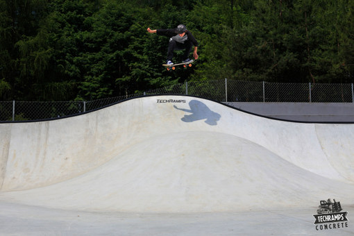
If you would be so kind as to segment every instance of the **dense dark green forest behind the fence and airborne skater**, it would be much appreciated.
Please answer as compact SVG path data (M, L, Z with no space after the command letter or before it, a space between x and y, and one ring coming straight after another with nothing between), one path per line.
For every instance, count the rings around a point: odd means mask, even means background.
M0 0L0 101L90 101L224 78L353 83L353 13L352 0ZM178 24L199 41L199 59L169 72L169 39L146 28Z

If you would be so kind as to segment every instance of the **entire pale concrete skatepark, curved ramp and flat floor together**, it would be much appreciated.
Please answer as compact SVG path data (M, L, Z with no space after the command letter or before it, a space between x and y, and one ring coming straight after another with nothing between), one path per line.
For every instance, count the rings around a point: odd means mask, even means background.
M354 124L144 96L0 130L0 235L354 233ZM327 199L347 227L315 228Z

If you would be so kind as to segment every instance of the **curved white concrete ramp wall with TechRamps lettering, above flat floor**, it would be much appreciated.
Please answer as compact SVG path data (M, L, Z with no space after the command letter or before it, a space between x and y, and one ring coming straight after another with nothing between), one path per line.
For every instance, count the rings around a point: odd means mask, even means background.
M227 212L354 196L354 124L278 121L192 96L146 96L0 131L0 201Z

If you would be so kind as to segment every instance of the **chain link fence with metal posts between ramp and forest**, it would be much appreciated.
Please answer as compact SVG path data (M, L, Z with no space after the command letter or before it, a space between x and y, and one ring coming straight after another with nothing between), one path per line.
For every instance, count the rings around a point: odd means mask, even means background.
M66 117L124 99L153 94L188 94L219 102L354 103L353 83L266 83L219 80L189 81L143 93L94 101L0 101L0 121L31 121Z

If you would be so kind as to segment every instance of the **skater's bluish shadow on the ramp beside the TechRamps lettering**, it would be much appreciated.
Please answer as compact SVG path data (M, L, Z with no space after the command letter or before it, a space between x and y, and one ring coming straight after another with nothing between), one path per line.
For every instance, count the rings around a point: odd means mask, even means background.
M213 112L206 106L204 103L196 100L189 101L189 108L188 109L183 109L183 108L177 108L174 106L174 108L178 110L183 110L184 112L189 112L192 113L191 115L185 115L183 118L181 118L182 121L185 122L194 122L194 121L199 121L202 119L205 119L205 123L209 124L210 126L216 126L217 121L221 118L221 115L217 112Z

